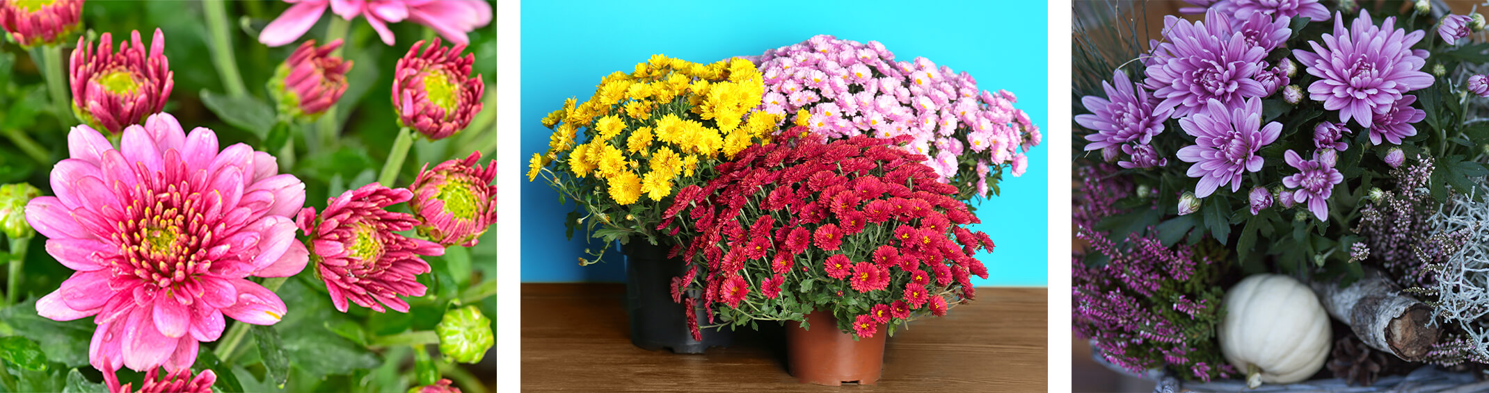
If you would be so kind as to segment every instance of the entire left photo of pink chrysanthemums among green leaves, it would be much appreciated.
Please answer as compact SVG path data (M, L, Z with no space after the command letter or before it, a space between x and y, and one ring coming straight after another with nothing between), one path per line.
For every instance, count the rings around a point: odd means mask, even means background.
M0 0L0 392L484 392L496 40L441 4Z

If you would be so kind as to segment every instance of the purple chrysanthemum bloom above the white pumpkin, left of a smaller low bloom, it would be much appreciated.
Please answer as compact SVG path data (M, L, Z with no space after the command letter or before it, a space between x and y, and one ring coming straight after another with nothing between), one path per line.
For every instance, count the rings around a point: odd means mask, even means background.
M1200 198L1215 194L1215 189L1230 185L1240 189L1240 176L1261 170L1257 150L1282 134L1282 124L1270 122L1261 127L1261 100L1246 98L1239 107L1227 109L1219 100L1211 98L1205 110L1179 119L1185 134L1194 135L1194 144L1179 149L1178 156L1190 167L1190 177L1200 177L1194 194Z

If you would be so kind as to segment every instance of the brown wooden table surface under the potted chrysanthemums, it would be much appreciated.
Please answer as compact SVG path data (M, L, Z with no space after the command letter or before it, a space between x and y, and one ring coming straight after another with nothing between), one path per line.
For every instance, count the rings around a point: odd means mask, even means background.
M877 386L798 384L782 328L739 330L706 354L631 345L624 284L523 284L523 392L1045 392L1047 289L978 287L884 348ZM770 329L771 326L774 329Z

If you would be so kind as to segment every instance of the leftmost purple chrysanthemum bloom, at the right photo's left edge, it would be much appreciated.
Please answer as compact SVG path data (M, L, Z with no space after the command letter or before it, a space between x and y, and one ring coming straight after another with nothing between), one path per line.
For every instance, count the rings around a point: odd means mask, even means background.
M1163 121L1173 113L1173 107L1154 109L1148 91L1132 83L1123 70L1112 71L1112 82L1102 82L1102 89L1106 91L1106 98L1081 97L1085 110L1091 113L1075 116L1077 124L1096 131L1085 135L1091 141L1085 144L1085 150L1129 141L1147 144L1152 135L1163 132Z

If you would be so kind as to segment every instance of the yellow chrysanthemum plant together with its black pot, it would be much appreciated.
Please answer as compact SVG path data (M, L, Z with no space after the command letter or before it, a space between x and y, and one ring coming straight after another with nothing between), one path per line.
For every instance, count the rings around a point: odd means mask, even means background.
M774 131L777 116L749 113L764 95L761 80L742 58L697 64L654 55L633 73L606 76L588 101L569 100L543 118L554 134L549 150L533 155L529 182L542 176L561 201L575 201L564 220L569 237L584 228L622 246L637 347L703 353L731 339L727 332L688 333L683 310L667 292L683 268L667 247L686 234L658 231L657 223L676 189L712 179L716 162ZM581 265L603 255L593 252Z

